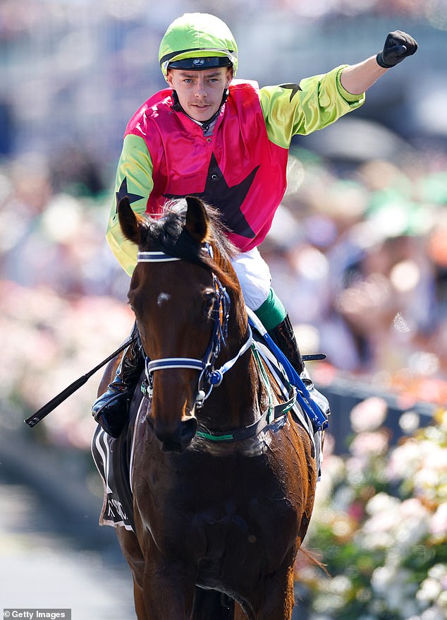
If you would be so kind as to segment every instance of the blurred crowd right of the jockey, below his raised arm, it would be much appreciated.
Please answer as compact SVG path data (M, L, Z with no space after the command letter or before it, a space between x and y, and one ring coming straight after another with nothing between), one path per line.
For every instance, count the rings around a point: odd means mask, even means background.
M443 151L341 174L296 150L262 247L306 352L437 403L447 401L446 171Z

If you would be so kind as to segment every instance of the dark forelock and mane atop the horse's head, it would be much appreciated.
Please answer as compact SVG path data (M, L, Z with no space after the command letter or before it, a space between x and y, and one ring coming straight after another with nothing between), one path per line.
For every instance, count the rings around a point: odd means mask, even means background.
M145 217L140 228L140 251L161 251L213 271L222 283L233 290L238 282L232 269L231 258L238 254L227 237L228 229L221 222L219 210L204 204L208 215L206 241L212 246L213 257L204 246L193 239L185 229L186 201L170 201L164 205L158 219Z

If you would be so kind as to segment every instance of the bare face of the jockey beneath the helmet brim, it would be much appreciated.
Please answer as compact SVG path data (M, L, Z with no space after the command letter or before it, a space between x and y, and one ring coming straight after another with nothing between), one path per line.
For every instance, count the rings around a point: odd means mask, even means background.
M176 90L181 107L195 121L207 121L219 109L230 85L233 69L216 67L204 71L169 69L167 81Z

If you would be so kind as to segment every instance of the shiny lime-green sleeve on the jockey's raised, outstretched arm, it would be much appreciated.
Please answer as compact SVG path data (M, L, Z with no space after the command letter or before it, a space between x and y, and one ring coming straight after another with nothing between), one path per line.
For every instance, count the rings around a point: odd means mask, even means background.
M360 107L365 93L352 95L341 85L346 65L324 75L305 78L300 84L265 86L259 91L269 140L289 148L293 136L323 129Z

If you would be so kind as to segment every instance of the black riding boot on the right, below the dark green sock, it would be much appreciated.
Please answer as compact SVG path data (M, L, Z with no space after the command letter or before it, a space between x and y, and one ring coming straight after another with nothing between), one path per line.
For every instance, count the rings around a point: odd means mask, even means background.
M292 364L293 369L295 369L295 371L300 376L302 383L305 384L312 400L317 403L319 409L322 410L322 412L327 418L331 413L331 410L329 408L329 401L321 392L317 390L317 388L315 388L312 379L310 378L307 370L305 369L300 349L298 348L298 343L296 341L295 334L293 333L293 326L292 323L290 323L290 318L288 314L286 314L286 318L284 318L278 326L269 330L269 335L271 337L271 340L274 341L275 345L287 357L290 364Z

